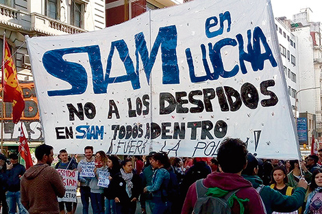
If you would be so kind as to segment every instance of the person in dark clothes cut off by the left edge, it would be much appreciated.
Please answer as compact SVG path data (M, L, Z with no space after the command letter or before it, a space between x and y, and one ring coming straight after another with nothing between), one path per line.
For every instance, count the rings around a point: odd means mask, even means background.
M0 207L2 206L2 213L8 214L8 204L5 199L5 191L7 191L6 183L8 180L8 176L5 173L7 170L7 165L5 164L7 161L7 157L0 154Z

